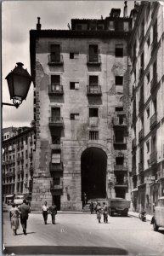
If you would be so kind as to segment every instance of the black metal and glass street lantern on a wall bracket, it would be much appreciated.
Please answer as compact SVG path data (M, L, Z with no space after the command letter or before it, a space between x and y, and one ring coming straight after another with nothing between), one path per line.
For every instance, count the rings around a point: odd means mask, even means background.
M9 95L10 99L13 100L13 104L4 102L2 104L19 108L28 94L32 79L27 70L23 68L23 63L17 62L16 64L17 67L14 67L14 70L8 73L5 78L8 81Z

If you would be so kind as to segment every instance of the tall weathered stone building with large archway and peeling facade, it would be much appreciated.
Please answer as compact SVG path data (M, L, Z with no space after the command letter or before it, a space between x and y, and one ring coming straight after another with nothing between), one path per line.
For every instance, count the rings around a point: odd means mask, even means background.
M30 32L36 165L31 207L52 201L82 210L88 200L130 200L129 67L132 19L111 9L99 20L71 20L69 30Z

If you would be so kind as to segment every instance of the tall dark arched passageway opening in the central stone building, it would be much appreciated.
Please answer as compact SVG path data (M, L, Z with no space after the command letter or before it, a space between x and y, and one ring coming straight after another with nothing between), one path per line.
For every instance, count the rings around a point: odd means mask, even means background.
M102 149L87 148L81 157L82 195L88 200L106 197L107 155Z

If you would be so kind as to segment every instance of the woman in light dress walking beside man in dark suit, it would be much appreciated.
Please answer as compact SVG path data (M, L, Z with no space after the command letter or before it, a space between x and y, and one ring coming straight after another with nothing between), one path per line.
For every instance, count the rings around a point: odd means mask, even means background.
M9 218L10 218L11 228L13 229L14 236L17 235L17 230L20 227L19 215L20 215L19 209L15 206L15 204L12 204L12 208L9 210Z

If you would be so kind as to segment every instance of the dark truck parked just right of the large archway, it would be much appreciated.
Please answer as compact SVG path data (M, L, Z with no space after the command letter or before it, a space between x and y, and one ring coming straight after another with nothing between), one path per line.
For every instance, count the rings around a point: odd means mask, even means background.
M130 201L123 198L110 198L109 199L109 214L113 216L114 213L127 216L128 209L130 208Z

